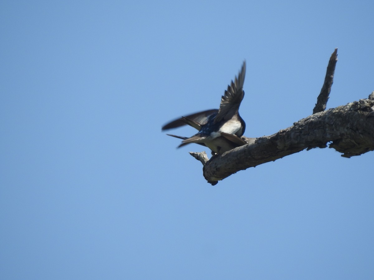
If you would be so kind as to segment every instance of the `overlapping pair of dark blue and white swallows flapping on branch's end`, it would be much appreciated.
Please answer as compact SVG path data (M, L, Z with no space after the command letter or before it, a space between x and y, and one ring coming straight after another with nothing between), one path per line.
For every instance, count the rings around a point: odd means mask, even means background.
M235 147L242 146L246 142L240 137L245 132L245 122L239 115L239 106L244 97L243 84L245 78L246 63L237 77L228 85L224 95L221 97L219 109L209 109L193 113L175 119L162 127L162 130L177 128L182 125L190 125L198 130L191 137L169 136L182 139L178 147L190 143L197 143L207 146L215 154L222 154Z

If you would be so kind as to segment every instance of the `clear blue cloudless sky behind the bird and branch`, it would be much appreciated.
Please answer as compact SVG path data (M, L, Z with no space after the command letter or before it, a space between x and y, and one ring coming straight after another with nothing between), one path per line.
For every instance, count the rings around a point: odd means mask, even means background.
M131 3L130 3L131 2ZM374 153L313 149L216 186L161 132L218 108L245 136L367 98L373 1L1 1L1 279L374 279ZM193 128L172 133L191 136Z

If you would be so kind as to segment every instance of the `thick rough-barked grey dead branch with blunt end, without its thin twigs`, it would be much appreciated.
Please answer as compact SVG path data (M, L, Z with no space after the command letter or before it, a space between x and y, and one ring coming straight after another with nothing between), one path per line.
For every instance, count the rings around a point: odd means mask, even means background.
M219 181L249 167L315 147L334 148L344 157L374 150L374 100L362 99L295 122L254 143L212 157L203 167L207 181Z

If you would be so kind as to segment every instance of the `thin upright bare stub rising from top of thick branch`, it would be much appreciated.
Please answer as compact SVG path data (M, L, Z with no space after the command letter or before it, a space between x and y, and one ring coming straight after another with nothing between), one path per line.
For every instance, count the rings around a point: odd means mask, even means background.
M324 85L322 86L321 93L317 97L317 104L313 109L313 114L326 110L327 100L331 91L332 83L334 82L334 72L337 61L338 48L334 50L328 62Z

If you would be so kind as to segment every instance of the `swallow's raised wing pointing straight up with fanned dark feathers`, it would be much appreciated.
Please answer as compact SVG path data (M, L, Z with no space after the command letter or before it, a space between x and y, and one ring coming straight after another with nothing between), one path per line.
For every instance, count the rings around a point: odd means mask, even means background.
M231 81L231 85L227 87L225 94L222 96L220 109L214 122L217 123L223 119L230 119L239 110L240 103L244 97L243 84L245 78L245 61L242 69L235 81Z

